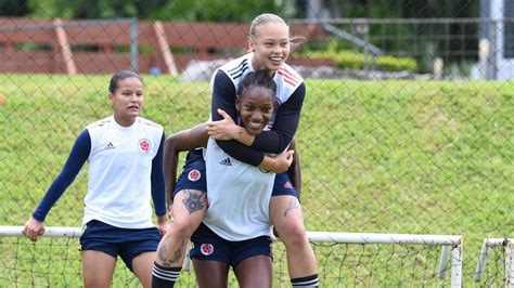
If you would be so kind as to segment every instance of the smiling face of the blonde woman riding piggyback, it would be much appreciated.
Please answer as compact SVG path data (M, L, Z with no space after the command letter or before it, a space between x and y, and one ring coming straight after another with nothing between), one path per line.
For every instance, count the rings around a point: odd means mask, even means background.
M290 55L290 28L280 22L268 22L255 28L255 35L249 40L253 50L254 69L280 69Z

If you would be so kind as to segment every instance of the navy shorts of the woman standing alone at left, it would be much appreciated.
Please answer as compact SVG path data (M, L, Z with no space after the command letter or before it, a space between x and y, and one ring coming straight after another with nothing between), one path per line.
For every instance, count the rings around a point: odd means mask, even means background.
M98 220L89 221L80 236L82 251L102 251L114 258L119 256L130 271L132 260L143 252L156 251L159 241L157 227L118 228Z

